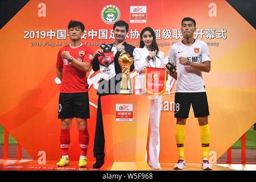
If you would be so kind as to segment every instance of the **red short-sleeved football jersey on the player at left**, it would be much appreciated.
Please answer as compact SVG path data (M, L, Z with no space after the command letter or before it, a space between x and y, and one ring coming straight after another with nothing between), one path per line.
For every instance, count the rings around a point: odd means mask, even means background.
M60 85L60 93L88 92L86 72L80 71L72 63L61 57L62 51L69 51L70 55L78 61L92 64L93 51L90 47L81 46L72 48L67 45L60 49L57 55L56 68L63 68L63 78Z

